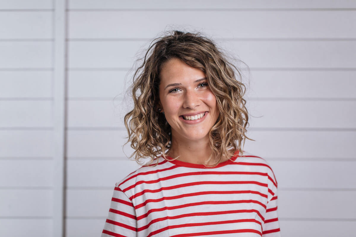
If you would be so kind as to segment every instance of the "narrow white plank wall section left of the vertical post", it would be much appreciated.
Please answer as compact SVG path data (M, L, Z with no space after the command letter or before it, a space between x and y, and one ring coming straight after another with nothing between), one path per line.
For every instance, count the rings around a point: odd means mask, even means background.
M0 29L0 236L52 236L52 1L0 1Z

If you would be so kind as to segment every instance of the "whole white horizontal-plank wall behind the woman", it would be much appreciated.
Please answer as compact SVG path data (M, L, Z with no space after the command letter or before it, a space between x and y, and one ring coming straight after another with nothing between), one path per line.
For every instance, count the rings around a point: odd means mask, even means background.
M56 1L64 0L0 1L0 236L47 237L58 228ZM66 236L100 236L115 182L137 167L121 147L120 93L138 50L167 25L203 31L250 66L256 141L244 150L274 169L283 236L353 234L356 1L68 0L67 7Z

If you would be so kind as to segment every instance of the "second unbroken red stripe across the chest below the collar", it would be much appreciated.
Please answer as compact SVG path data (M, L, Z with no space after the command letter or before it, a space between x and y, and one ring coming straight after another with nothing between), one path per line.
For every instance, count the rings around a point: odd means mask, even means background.
M203 181L203 182L177 184L177 185L173 185L173 186L162 187L159 189L145 189L145 190L142 190L141 192L138 192L138 193L132 195L129 199L132 200L133 198L137 198L138 196L141 196L144 193L158 193L158 192L161 192L162 190L171 190L171 189L183 188L183 187L189 187L189 186L201 185L201 184L257 184L257 185L260 185L263 187L268 187L267 184L260 183L257 181Z

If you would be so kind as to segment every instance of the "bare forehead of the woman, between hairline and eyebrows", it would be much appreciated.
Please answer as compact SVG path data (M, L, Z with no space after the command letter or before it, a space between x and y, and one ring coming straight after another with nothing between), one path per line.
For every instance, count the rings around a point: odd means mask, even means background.
M205 74L199 69L188 66L178 58L172 58L163 64L159 77L161 84L166 84L177 80L180 82L201 79L205 77Z

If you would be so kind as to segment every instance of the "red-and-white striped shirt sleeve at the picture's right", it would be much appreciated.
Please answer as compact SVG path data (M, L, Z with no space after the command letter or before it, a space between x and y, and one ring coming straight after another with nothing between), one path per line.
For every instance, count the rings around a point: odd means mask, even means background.
M277 181L273 171L268 172L268 202L266 208L265 221L262 223L262 237L280 237L277 213Z

